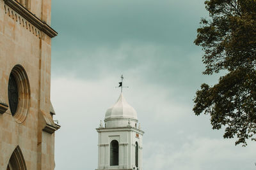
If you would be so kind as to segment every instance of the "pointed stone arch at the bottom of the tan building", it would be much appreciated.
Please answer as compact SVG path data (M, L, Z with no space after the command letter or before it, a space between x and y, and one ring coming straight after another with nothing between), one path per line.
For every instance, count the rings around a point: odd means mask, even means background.
M6 167L6 170L27 170L26 162L20 150L20 147L17 146L10 157L9 163Z

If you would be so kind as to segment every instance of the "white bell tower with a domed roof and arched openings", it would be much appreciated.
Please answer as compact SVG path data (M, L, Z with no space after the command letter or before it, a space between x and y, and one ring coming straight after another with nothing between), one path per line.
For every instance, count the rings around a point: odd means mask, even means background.
M121 84L122 85L122 84ZM118 101L106 111L105 126L99 133L98 169L142 169L142 136L137 113L120 94Z

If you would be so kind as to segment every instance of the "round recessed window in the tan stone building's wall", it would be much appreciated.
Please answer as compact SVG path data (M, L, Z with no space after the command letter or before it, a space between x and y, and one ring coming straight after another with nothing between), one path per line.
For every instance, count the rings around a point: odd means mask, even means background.
M13 67L8 83L10 111L18 123L24 122L30 106L30 87L28 76L20 65Z

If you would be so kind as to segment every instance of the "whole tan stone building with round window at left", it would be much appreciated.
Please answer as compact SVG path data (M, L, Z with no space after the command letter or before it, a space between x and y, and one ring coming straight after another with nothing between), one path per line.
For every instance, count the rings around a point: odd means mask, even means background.
M0 169L54 169L51 0L0 0Z

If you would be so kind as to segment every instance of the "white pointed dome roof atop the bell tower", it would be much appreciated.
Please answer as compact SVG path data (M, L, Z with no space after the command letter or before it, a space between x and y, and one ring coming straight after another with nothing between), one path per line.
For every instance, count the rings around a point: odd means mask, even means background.
M110 118L131 118L137 120L137 113L121 93L116 103L106 111L105 120Z

